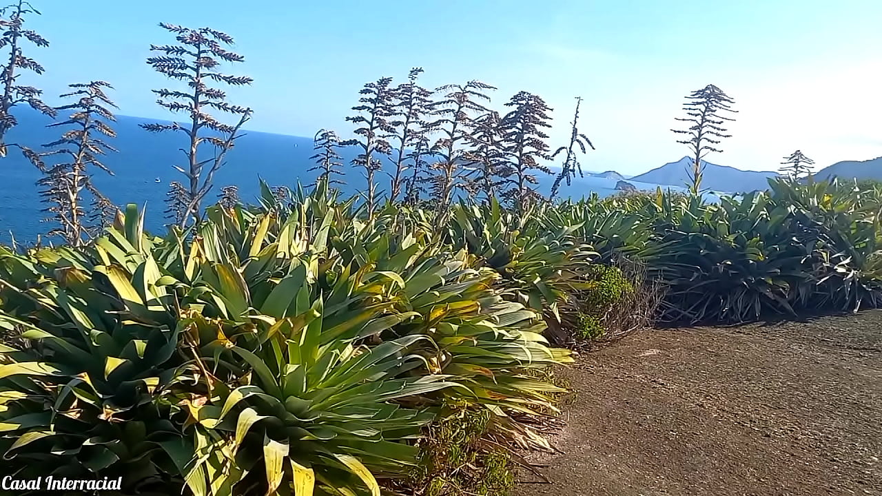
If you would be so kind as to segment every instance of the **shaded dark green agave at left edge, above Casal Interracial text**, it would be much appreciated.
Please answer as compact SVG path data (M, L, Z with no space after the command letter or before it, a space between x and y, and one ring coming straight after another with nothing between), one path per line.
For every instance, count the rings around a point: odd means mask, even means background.
M0 449L19 477L181 482L190 455L162 397L193 371L143 218L126 221L86 252L0 248L0 327L30 343L0 348Z

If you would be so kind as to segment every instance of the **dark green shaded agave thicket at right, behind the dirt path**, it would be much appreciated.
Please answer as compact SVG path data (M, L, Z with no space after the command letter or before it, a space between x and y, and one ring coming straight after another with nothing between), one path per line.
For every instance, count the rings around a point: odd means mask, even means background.
M601 261L633 259L663 293L668 323L744 322L770 313L882 304L882 190L771 181L768 192L698 197L661 190L550 207ZM643 289L639 289L638 292Z

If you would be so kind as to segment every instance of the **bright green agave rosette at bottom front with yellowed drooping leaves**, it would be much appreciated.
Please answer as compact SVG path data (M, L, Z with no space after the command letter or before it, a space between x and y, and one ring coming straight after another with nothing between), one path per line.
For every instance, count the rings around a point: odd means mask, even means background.
M194 412L194 421L218 434L199 443L205 455L188 478L194 492L229 494L254 485L265 493L293 487L295 494L378 495L377 478L402 477L415 465L417 450L405 441L434 413L405 405L419 406L421 395L454 384L443 375L407 375L422 366L421 357L407 353L422 336L372 348L325 342L333 327L323 326L320 302L279 320L258 352L231 348L252 377L235 388L218 383L211 401Z

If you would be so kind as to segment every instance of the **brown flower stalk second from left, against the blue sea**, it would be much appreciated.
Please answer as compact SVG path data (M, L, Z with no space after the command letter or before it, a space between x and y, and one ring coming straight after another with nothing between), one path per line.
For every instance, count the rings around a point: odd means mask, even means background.
M100 157L107 152L116 152L101 138L116 137L116 132L108 124L116 121L109 109L116 108L116 105L104 93L105 89L112 88L104 81L69 86L74 91L61 97L72 97L77 101L56 107L56 111L72 110L73 113L67 120L49 124L49 127L71 126L72 129L64 132L61 139L44 146L52 148L51 151L40 154L41 159L63 156L67 160L53 166L43 165L43 176L37 184L42 188L42 201L49 204L45 211L58 223L49 235L64 237L71 246L81 246L94 234L86 220L84 192L92 198L92 220L97 224L94 227L105 227L109 217L116 213L110 200L95 187L89 173L89 169L96 168L113 175L101 163Z

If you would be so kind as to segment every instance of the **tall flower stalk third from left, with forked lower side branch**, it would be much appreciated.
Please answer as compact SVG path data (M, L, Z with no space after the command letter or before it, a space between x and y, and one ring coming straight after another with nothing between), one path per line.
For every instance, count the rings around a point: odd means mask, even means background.
M235 140L243 124L250 116L251 109L231 105L227 94L221 89L208 86L210 82L224 83L229 86L250 85L253 79L247 76L230 76L217 71L221 62L239 63L244 57L228 51L224 45L232 45L233 38L208 27L191 29L160 23L166 31L176 34L178 45L151 45L150 49L160 52L161 56L147 58L147 64L169 79L185 81L188 91L157 89L153 93L159 95L158 105L172 112L185 112L190 115L187 124L141 124L149 132L183 132L187 136L190 147L183 151L187 157L187 169L177 167L188 179L186 195L175 192L172 196L185 201L183 219L178 222L181 228L191 219L198 220L201 213L200 204L213 185L214 174L224 163L228 151L234 146ZM239 116L235 125L223 124L208 114L216 110ZM207 131L207 132L206 132ZM199 158L199 147L208 144L214 147L213 158ZM206 167L207 166L207 167ZM207 169L207 171L206 171Z

